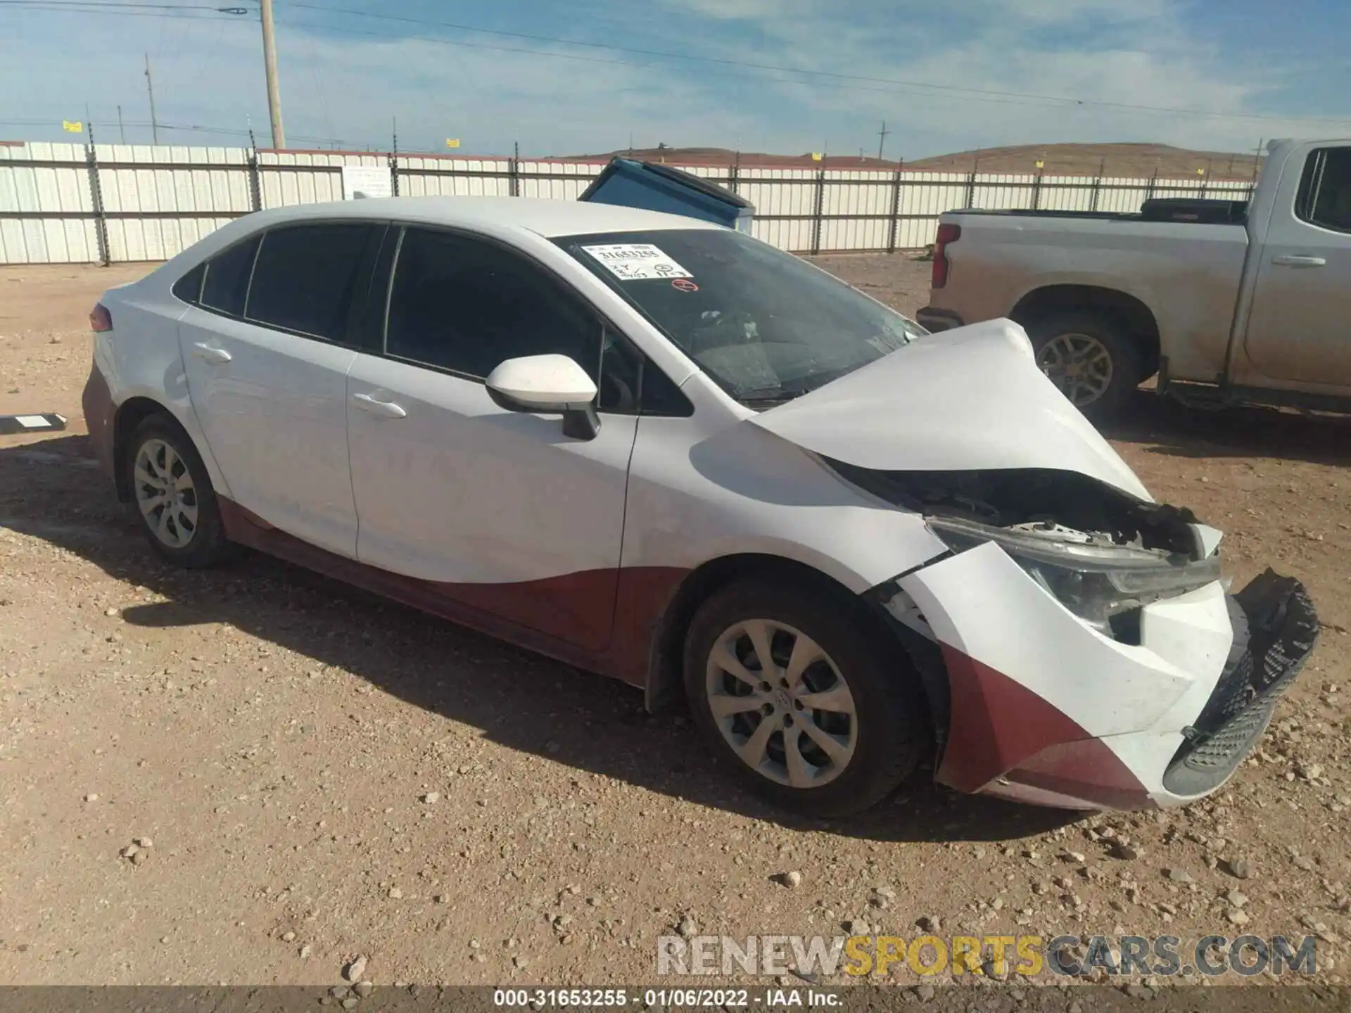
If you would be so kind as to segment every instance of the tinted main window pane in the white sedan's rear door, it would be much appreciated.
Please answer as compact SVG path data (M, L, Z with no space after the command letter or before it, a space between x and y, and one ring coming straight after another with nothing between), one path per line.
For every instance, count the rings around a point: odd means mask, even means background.
M246 319L342 340L373 230L363 222L269 230L254 265Z

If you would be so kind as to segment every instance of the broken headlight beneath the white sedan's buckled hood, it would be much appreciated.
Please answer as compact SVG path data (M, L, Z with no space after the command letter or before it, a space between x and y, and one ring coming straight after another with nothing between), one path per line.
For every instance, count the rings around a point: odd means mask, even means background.
M993 542L1065 608L1109 636L1113 616L1220 579L1219 555L1197 561L1048 523L993 528L955 517L925 520L957 552Z

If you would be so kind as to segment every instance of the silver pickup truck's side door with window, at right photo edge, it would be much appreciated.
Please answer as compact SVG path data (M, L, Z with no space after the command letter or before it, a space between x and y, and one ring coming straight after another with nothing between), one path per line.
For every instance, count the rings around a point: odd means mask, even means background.
M1301 172L1298 162L1286 172ZM1288 201L1288 199L1285 199ZM1351 390L1351 146L1313 147L1271 212L1244 348L1260 377Z

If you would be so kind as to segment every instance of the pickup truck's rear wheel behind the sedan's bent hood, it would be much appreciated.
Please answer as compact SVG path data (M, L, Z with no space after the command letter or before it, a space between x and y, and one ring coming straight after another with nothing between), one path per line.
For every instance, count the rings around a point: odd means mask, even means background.
M1036 365L1090 419L1116 415L1147 375L1139 347L1111 315L1070 309L1034 320L1027 332Z

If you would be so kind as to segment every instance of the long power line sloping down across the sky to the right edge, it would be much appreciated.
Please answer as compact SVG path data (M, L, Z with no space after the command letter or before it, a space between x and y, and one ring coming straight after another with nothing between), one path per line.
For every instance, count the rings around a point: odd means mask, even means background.
M547 43L551 43L551 45L580 46L580 47L585 47L585 49L600 49L600 50L609 50L609 51L615 51L615 53L632 53L635 55L657 57L657 58L661 58L661 59L685 59L685 61L693 61L693 62L700 62L700 63L712 63L712 65L719 65L719 66L746 68L746 69L751 69L751 70L770 70L770 72L775 72L775 73L805 74L805 76L811 76L811 77L830 77L830 78L835 78L835 80L840 80L840 81L861 81L861 82L869 82L869 84L900 85L900 86L904 86L904 88L925 88L925 89L931 89L931 90L935 90L935 92L951 92L954 95L992 96L992 97L1001 97L1001 99L1025 99L1025 100L1032 100L1032 101L1039 101L1039 103L1055 103L1055 104L1059 104L1059 105L1090 105L1090 107L1097 107L1097 108L1115 108L1115 109L1127 109L1127 111L1135 111L1135 112L1169 113L1169 115L1174 115L1174 116L1177 116L1177 115L1182 115L1182 116L1208 116L1208 118L1240 119L1240 120L1286 120L1286 122L1296 122L1296 120L1298 120L1298 122L1310 122L1310 123L1347 123L1347 122L1351 122L1351 118L1336 119L1336 118L1321 118L1321 116L1273 116L1273 115L1263 115L1263 113L1219 112L1219 111L1213 111L1213 109L1188 109L1188 108L1177 108L1177 107L1169 107L1169 105L1142 105L1142 104L1136 104L1136 103L1113 103L1113 101L1097 100L1097 99L1074 99L1074 97L1070 97L1070 96L1040 95L1040 93L1036 93L1036 92L1013 92L1013 90L1006 90L1006 89L990 89L990 88L966 88L966 86L962 86L962 85L934 84L934 82L929 82L929 81L905 81L905 80L890 78L890 77L871 77L871 76L866 76L866 74L846 74L846 73L834 72L834 70L811 70L808 68L780 66L780 65L774 65L774 63L757 63L757 62L744 61L744 59L728 59L728 58L721 58L721 57L701 57L701 55L696 55L696 54L692 54L692 53L674 53L674 51L670 51L670 50L640 49L640 47L636 47L636 46L619 46L619 45L609 43L609 42L586 42L586 41L581 41L581 39L565 39L565 38L558 38L558 36L554 36L554 35L538 35L538 34L534 34L534 32L507 31L507 30L501 30L501 28L481 28L481 27L477 27L477 26L473 26L473 24L461 24L461 23L457 23L457 22L438 22L438 20L427 20L427 19L420 19L420 18L404 18L404 16L400 16L400 15L380 14L380 12L376 12L376 11L355 11L355 9L346 8L346 7L328 7L328 5L309 4L309 3L303 3L303 1L290 3L290 4L288 4L288 7L292 7L292 8L304 8L304 9L309 9L309 11L322 11L324 14L345 14L345 15L354 16L354 18L372 18L372 19L385 20L385 22L399 22L399 23L403 23L403 24L419 24L419 26L430 26L430 27L438 27L438 28L451 28L451 30L455 30L455 31L478 32L478 34L484 34L484 35L500 35L500 36L507 36L507 38L528 39L528 41L532 41L532 42L547 42ZM328 27L328 26L323 26L323 27ZM442 39L442 42L450 42L450 41L449 39ZM473 43L461 43L461 45L473 45ZM542 51L542 50L526 50L526 51L527 53L532 53L535 55L563 55L563 54L551 54L547 50L546 51Z

